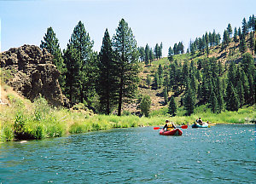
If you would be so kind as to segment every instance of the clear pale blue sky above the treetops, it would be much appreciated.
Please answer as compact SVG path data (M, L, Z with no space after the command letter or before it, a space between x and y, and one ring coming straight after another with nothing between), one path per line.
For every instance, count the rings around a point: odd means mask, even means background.
M138 46L154 47L163 43L163 54L174 43L201 37L213 29L223 36L230 23L241 26L241 20L256 15L255 0L0 0L1 51L21 45L40 45L52 26L66 49L74 26L81 20L99 51L105 29L111 36L124 18Z

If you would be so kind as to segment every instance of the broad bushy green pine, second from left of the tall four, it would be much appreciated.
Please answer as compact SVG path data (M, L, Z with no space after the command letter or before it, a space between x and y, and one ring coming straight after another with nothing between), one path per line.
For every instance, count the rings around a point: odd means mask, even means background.
M96 53L92 50L93 44L84 24L79 21L64 51L69 100L75 103L86 101L89 106L95 95Z

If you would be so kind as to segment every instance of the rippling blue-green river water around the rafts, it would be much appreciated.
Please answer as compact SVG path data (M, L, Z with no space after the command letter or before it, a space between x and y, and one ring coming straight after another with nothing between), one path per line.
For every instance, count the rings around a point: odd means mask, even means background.
M112 129L0 144L0 183L255 183L255 125Z

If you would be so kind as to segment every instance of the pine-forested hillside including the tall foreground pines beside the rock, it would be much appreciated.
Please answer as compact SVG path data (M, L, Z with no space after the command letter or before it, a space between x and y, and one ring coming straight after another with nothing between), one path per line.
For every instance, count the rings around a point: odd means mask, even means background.
M69 101L97 113L148 116L169 106L172 116L189 115L202 105L214 113L237 111L255 103L254 15L241 23L234 29L228 24L223 36L213 30L191 38L186 54L183 43L175 43L167 58L162 58L162 43L137 48L123 19L113 37L106 29L99 53L81 21L63 53L52 27L40 47L54 55Z

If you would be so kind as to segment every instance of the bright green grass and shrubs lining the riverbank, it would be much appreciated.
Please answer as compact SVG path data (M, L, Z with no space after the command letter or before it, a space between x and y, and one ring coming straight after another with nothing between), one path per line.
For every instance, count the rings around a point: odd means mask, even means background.
M152 112L148 118L139 118L135 115L96 115L83 104L73 106L72 109L51 107L44 98L38 97L31 102L17 95L7 85L3 86L2 95L9 103L0 108L0 142L41 140L98 130L163 125L166 118L177 125L193 124L198 117L212 124L252 124L256 118L255 106L218 114L212 113L206 106L200 106L190 116L176 117L168 116L163 108Z

